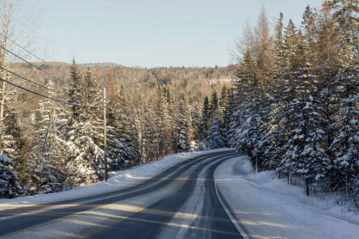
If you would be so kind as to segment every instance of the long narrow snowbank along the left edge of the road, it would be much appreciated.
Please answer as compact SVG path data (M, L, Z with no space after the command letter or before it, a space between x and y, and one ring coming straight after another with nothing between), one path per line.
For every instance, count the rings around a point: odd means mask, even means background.
M111 172L110 178L107 180L107 182L98 182L92 185L82 186L73 190L59 193L37 194L34 196L19 197L15 199L0 199L0 210L19 206L31 206L35 204L59 202L68 199L77 199L117 191L134 186L146 179L154 177L183 160L188 160L195 156L200 156L207 153L226 150L230 149L216 149L173 154L165 157L164 159L156 160L148 164L139 165L127 170Z

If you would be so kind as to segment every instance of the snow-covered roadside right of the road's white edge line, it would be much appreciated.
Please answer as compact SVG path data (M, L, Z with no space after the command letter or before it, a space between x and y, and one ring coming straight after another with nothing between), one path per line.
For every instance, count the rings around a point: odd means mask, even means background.
M215 172L216 185L232 215L256 239L355 239L359 216L341 217L331 201L304 195L304 189L275 179L271 171L251 173L246 156L226 160Z

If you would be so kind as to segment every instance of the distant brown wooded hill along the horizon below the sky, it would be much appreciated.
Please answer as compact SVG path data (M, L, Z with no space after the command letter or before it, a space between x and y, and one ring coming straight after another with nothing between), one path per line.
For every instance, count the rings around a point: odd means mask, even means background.
M49 62L53 67L42 62L33 62L32 64L50 73L56 79L27 63L12 63L9 67L16 73L24 77L31 77L33 81L40 84L47 84L51 80L59 90L69 86L67 84L70 79L69 63ZM108 85L111 80L116 88L121 84L128 85L135 82L147 82L153 85L165 84L174 88L178 94L185 93L193 96L198 93L208 95L214 85L231 85L234 72L232 66L143 68L126 67L111 62L79 64L79 68L82 72L90 69L103 85Z

